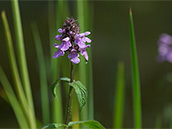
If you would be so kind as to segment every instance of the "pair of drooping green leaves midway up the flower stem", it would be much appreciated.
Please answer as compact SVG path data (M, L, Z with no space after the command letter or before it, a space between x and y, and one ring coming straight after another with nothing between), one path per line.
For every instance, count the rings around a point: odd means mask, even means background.
M81 110L87 102L87 89L86 89L86 87L80 81L74 80L72 83L70 83L70 78L62 77L60 79L57 79L50 86L51 91L52 91L55 98L57 98L56 87L60 85L60 81L67 82L69 84L69 86L73 87L73 89L75 90L77 99L78 99L80 110Z

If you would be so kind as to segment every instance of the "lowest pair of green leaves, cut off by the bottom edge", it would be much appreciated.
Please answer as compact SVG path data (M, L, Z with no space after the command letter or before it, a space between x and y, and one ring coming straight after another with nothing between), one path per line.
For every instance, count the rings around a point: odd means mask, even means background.
M68 125L52 123L52 124L48 124L48 125L42 127L42 129L62 128L62 127L68 128L68 127L71 127L71 126L76 125L76 124L85 125L89 129L105 129L98 121L95 121L95 120L69 122Z

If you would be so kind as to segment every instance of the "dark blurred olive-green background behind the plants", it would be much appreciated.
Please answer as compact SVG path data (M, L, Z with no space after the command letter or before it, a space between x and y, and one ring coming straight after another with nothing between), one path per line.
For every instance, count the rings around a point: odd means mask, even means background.
M30 23L31 21L37 22L44 53L48 57L49 38L54 37L48 37L47 4L47 1L23 0L19 2L28 69L38 118L41 118L39 73ZM94 6L92 12L94 15L92 26L93 56L90 58L93 60L95 120L107 128L112 128L117 63L123 61L125 63L126 88L124 128L133 127L129 40L129 8L131 7L140 70L143 128L153 128L157 114L163 117L163 127L169 127L169 122L172 121L172 119L170 120L172 117L172 64L159 63L156 57L159 35L164 32L172 35L172 2L89 1L89 4L89 6ZM71 16L76 17L76 2L69 1L69 5ZM14 40L10 1L0 1L0 11L2 10L6 11ZM0 65L4 68L8 78L12 80L5 43L1 19ZM2 91L2 87L0 88ZM12 108L1 98L0 114L0 128L18 127Z

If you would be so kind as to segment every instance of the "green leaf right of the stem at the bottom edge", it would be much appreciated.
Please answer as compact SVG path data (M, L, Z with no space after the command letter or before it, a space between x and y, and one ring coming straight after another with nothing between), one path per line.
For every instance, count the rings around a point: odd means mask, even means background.
M105 129L98 121L95 120L69 122L68 127L76 124L85 125L90 129Z

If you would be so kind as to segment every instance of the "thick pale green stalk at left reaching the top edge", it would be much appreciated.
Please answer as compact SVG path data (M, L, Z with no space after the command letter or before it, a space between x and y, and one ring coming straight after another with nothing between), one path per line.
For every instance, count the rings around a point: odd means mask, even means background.
M12 12L13 12L13 19L14 19L15 34L16 34L17 52L18 52L18 57L19 57L19 60L18 60L19 68L21 72L23 86L26 93L26 99L32 112L33 127L36 128L35 111L34 111L33 98L32 98L31 86L30 86L28 69L27 69L25 47L24 47L24 40L23 40L23 31L22 31L18 0L12 0L11 4L12 4Z

